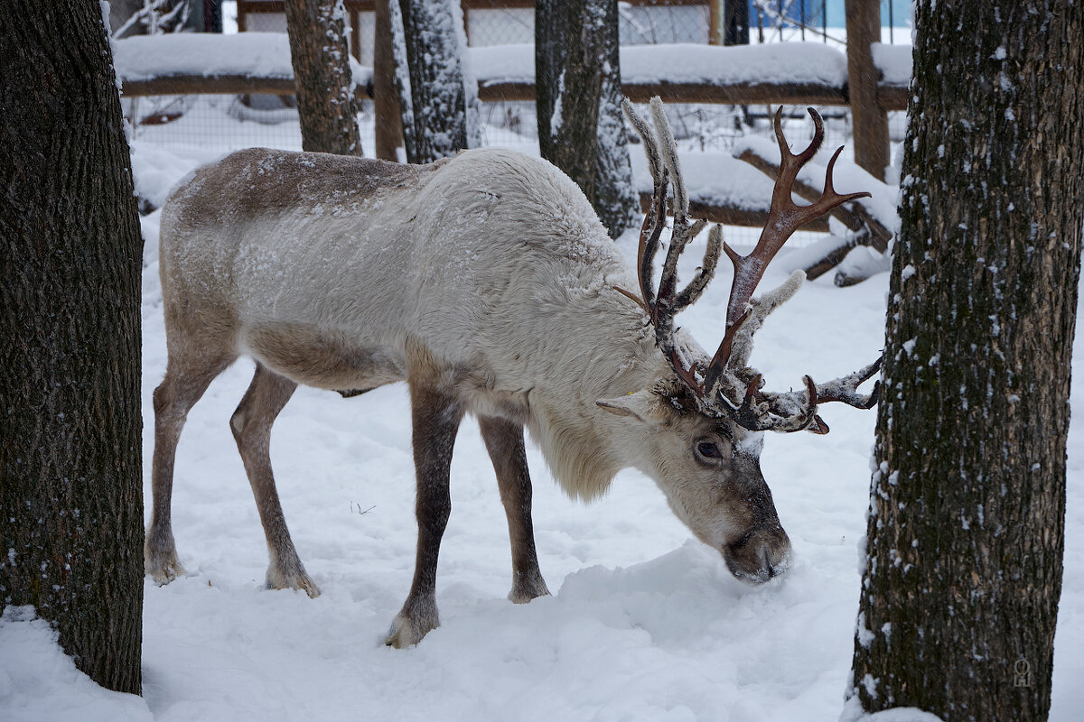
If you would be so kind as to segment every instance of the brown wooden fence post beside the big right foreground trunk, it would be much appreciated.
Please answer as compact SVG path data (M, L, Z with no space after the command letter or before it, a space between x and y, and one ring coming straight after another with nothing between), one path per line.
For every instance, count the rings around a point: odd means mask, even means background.
M870 45L880 42L880 0L847 0L847 75L854 123L854 160L879 181L890 162L888 114L877 102L879 71Z

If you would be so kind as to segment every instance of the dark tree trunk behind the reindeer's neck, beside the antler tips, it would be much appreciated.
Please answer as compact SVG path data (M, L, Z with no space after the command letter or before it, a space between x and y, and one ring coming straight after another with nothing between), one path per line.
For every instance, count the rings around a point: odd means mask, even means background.
M534 16L542 157L576 181L616 238L638 209L621 115L617 0L540 0Z

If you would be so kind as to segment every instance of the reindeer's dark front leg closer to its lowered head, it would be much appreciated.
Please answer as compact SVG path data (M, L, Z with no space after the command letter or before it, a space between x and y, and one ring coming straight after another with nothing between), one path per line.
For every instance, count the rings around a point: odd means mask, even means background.
M527 470L524 428L496 417L479 417L482 441L493 461L501 502L508 517L512 541L512 591L508 599L526 604L550 593L534 551L534 525L531 521L531 476Z

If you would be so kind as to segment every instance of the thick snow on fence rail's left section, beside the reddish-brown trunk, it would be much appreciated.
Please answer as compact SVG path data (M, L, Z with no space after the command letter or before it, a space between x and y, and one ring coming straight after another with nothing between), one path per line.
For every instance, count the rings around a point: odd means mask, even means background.
M293 78L289 38L285 32L173 32L113 41L113 61L121 81L168 76L245 76ZM352 56L356 86L373 77Z

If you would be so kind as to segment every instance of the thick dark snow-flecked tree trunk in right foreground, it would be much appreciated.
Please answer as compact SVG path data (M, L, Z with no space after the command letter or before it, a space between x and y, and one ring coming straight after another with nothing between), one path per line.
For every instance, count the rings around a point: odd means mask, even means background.
M1044 720L1084 223L1084 5L922 0L915 16L848 705Z

